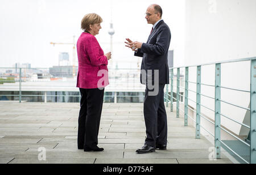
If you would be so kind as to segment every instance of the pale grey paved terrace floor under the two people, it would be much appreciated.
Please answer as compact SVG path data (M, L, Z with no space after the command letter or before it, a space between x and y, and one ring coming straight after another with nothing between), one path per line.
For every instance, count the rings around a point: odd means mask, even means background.
M0 101L0 163L232 163L222 150L222 159L210 160L213 144L195 128L184 127L184 118L167 110L166 151L137 154L145 139L143 104L104 104L98 146L103 152L77 150L79 103L18 103ZM38 160L39 147L46 160Z

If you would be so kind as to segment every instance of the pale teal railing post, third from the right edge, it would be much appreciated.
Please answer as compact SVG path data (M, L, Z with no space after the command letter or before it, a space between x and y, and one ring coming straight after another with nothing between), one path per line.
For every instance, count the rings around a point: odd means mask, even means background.
M196 138L200 139L200 113L201 113L201 66L197 66L196 78Z

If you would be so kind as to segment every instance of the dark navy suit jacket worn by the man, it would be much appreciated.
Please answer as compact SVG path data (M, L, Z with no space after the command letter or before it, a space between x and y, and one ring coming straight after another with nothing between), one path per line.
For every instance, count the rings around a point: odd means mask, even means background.
M171 42L170 28L161 20L143 43L134 56L143 57L141 70L152 70L152 83L154 85L154 70L159 70L159 84L169 84L168 49ZM142 81L141 74L141 83Z

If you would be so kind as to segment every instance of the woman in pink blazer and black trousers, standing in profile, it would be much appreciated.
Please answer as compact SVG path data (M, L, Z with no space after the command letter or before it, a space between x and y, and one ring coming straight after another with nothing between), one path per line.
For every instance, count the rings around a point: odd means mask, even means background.
M104 54L96 35L101 29L102 18L87 14L81 21L81 36L77 41L79 70L77 87L81 93L77 147L84 151L103 151L99 148L98 130L104 97L108 86L108 60L111 53Z

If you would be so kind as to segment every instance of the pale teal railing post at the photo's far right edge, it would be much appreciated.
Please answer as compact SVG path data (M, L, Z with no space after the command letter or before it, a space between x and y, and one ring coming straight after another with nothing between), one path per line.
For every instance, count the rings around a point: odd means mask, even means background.
M251 60L250 163L256 164L256 59Z

